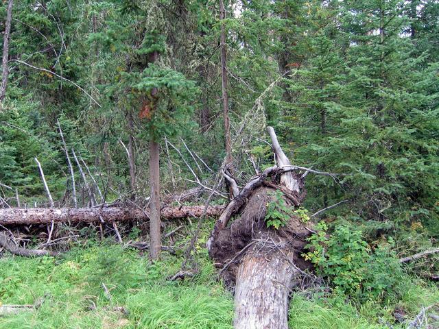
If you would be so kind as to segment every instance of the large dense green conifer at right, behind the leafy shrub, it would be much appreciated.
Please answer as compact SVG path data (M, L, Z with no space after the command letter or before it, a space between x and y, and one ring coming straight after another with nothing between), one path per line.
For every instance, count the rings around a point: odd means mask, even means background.
M432 184L438 175L437 66L422 65L426 56L413 55L416 49L403 34L408 22L404 3L344 1L341 5L337 34L344 41L338 49L308 62L300 75L305 82L291 83L300 94L297 108L308 108L309 114L300 112L296 119L306 126L295 135L306 140L301 140L298 157L348 174L340 186L334 185L333 193L348 191L345 197L355 199L357 215L353 217L378 220L381 228L388 227L389 219L427 223L437 218L438 188ZM333 62L337 52L343 56L338 63ZM343 67L340 60L346 69L337 73ZM321 63L331 73L318 85L309 72L318 70ZM300 102L303 97L305 104ZM325 122L311 117L322 109ZM318 182L316 193L327 184L331 182Z

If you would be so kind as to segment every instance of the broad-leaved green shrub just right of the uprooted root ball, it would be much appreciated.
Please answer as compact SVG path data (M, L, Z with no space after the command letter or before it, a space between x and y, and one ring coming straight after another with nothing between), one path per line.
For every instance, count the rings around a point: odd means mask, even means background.
M318 224L318 234L309 238L307 260L316 265L320 275L327 276L341 293L361 300L381 300L399 282L401 267L389 243L372 249L361 231L348 226L335 228L331 236L327 226Z

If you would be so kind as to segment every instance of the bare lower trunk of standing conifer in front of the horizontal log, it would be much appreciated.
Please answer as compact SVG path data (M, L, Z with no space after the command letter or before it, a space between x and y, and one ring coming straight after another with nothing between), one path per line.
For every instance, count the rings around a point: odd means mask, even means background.
M160 236L160 169L158 167L158 143L150 141L150 184L151 184L151 203L150 203L150 236L151 248L150 257L155 260L160 256L161 236Z

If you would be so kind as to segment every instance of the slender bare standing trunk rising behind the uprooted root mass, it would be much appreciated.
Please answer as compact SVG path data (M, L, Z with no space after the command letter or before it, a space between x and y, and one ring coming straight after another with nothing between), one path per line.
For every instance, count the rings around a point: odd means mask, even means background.
M232 141L230 139L230 118L228 116L228 93L227 93L227 51L226 51L226 27L224 19L226 10L224 1L219 0L219 20L221 23L220 48L221 48L221 82L222 82L222 110L224 116L224 139L226 147L226 167L232 161Z

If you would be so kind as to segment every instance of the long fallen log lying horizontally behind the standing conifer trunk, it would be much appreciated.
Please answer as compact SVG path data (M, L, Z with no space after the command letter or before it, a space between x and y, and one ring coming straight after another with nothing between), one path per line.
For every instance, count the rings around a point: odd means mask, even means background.
M224 207L209 206L206 216L218 216ZM201 217L204 206L165 207L161 210L163 219L184 219ZM150 219L149 210L125 207L104 208L8 208L0 209L0 224L30 225L54 223L92 223L104 221L145 221Z

